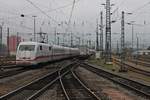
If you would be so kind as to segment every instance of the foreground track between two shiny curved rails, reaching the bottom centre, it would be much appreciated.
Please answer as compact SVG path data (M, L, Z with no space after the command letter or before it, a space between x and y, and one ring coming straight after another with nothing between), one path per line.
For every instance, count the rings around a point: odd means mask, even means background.
M66 77L61 77L59 80L66 100L101 100L82 83L73 70Z

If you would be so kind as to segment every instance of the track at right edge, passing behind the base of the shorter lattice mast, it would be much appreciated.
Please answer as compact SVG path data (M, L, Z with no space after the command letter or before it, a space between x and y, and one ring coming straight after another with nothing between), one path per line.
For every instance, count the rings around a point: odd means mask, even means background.
M118 65L121 65L120 61L115 59L115 63L118 64ZM124 62L124 65L128 67L128 70L132 71L132 72L136 72L136 73L139 73L139 74L142 74L142 75L145 75L145 76L150 76L150 72L147 71L147 70L143 70L143 69L139 69L139 68L136 68L130 64L127 64Z

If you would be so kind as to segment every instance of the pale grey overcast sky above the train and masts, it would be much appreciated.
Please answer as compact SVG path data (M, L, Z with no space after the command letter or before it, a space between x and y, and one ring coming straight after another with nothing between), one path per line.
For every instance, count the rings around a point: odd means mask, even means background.
M0 23L4 22L4 27L10 27L12 34L16 32L27 33L33 32L33 15L36 15L37 29L48 33L54 32L54 28L60 32L65 32L66 26L58 26L60 23L68 22L73 0L30 0L37 7L46 12L45 16L37 8L35 8L28 0L0 0ZM99 12L105 13L104 6L105 0L76 0L73 16L71 19L72 24L75 23L72 31L78 33L95 33L96 19L99 18ZM135 33L140 36L143 43L149 44L150 38L150 1L149 0L111 0L112 12L118 10L112 15L112 20L117 20L112 24L112 33L120 33L120 14L121 11L133 12L133 15L126 15L126 22L132 20L136 24L142 26L135 26ZM61 9L57 9L60 8ZM55 9L55 10L54 10ZM21 18L20 15L24 14L25 17ZM84 23L84 25L83 25ZM105 19L104 19L105 23ZM73 25L72 25L73 26ZM113 35L113 40L120 38L118 35ZM126 25L126 40L131 41L131 26Z

